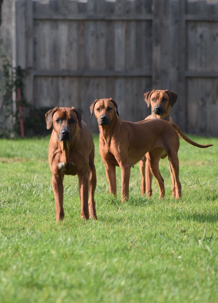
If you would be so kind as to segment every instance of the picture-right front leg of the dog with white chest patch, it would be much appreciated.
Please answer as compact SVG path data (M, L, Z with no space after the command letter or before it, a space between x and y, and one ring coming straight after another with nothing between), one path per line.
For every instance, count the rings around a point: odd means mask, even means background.
M81 202L81 213L80 216L83 219L89 219L88 211L88 191L89 191L89 176L78 175L79 179L79 194Z

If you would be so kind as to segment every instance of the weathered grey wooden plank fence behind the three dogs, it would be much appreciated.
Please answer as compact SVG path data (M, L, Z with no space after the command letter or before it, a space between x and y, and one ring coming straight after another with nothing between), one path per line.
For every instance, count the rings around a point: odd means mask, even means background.
M13 64L35 107L114 98L124 120L144 119L144 92L179 94L183 131L218 136L218 0L16 0Z

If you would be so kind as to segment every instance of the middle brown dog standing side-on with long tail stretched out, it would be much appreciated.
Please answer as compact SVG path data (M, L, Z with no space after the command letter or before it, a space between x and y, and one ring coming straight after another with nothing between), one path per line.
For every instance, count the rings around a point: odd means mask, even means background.
M180 128L162 119L150 119L140 122L122 121L118 118L117 103L112 99L100 99L90 106L91 117L94 114L99 126L99 151L104 162L105 172L111 194L117 194L115 166L121 168L121 199L129 197L129 179L131 167L150 152L150 170L157 179L160 198L165 195L164 183L159 172L159 160L166 151L175 179L175 196L181 196L179 181L179 137L201 148L212 145L200 145L187 138ZM178 134L178 135L177 135Z

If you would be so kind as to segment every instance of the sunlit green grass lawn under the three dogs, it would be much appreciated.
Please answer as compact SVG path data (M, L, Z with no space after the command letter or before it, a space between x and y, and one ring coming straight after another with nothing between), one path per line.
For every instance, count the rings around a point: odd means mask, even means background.
M80 218L77 176L64 178L65 218L55 221L48 140L0 141L0 302L218 302L218 139L180 141L182 197L140 196L138 165L130 199L109 194L95 141L98 221Z

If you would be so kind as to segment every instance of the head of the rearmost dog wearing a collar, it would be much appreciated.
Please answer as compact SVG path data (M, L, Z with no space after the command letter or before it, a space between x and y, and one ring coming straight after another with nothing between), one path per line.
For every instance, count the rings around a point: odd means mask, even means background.
M170 107L177 101L178 95L168 90L154 90L144 94L147 106L151 104L151 111L155 115L164 115L170 113ZM164 117L163 117L164 118Z

